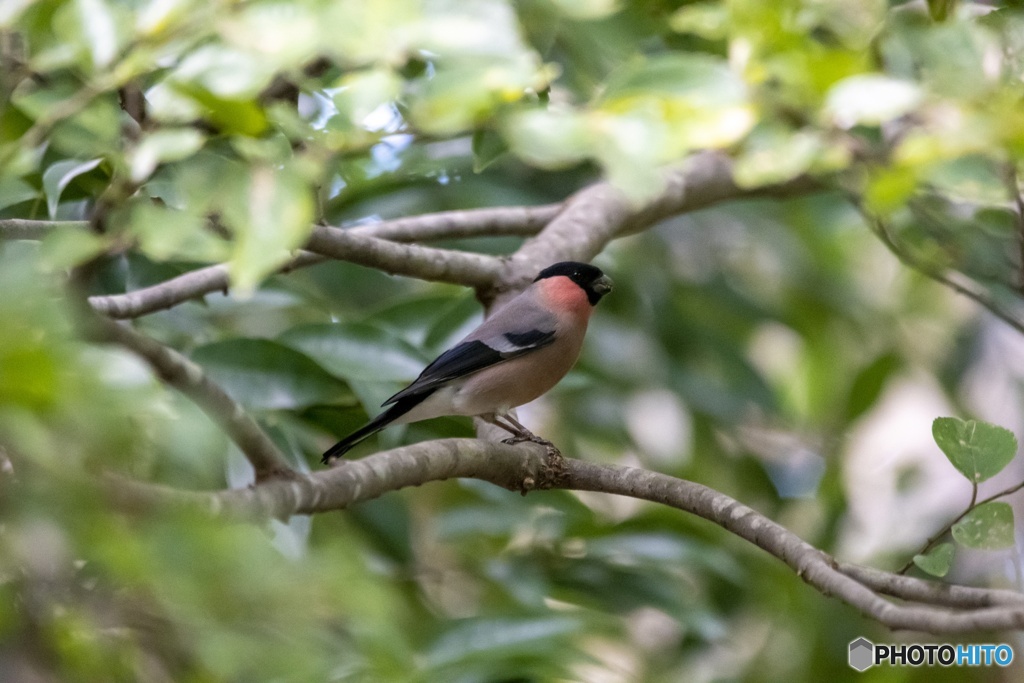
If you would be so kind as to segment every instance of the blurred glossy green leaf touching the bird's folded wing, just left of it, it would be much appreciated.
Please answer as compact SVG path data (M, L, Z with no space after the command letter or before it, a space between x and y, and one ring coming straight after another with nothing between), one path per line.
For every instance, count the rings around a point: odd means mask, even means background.
M346 379L410 381L426 365L410 344L362 323L303 325L292 328L278 339Z

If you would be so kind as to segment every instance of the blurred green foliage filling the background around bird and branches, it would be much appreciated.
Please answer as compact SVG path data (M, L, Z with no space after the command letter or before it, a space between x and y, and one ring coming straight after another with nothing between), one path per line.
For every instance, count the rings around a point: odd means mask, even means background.
M245 467L138 361L78 337L59 273L100 256L93 292L119 293L226 261L233 296L138 326L314 464L479 310L344 263L271 275L313 222L560 201L602 175L640 200L707 147L744 186L810 174L821 191L609 247L584 358L526 415L567 455L700 481L843 552L876 493L847 483L851 434L901 383L963 414L994 381L991 321L899 270L854 204L1019 306L1022 69L1010 2L5 0L0 219L101 229L0 244L0 680L859 676L850 640L901 636L632 501L453 481L266 528L114 511L92 473L215 488ZM356 455L469 434L437 420ZM920 501L914 468L893 486ZM922 540L941 523L914 521ZM957 575L1006 581L988 569Z

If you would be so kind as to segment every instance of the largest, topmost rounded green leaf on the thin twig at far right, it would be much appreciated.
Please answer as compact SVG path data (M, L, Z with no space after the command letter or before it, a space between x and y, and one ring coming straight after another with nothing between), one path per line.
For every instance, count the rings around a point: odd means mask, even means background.
M953 467L976 483L998 474L1017 455L1013 432L978 420L936 418L932 436Z

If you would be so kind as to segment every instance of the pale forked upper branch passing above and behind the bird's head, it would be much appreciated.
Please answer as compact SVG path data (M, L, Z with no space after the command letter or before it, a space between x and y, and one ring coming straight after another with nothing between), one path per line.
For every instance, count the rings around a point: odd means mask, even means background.
M667 171L663 191L642 206L634 206L610 183L599 182L580 190L564 205L446 211L345 229L316 226L306 249L391 273L467 285L500 295L518 291L554 261L589 261L615 237L642 230L668 216L728 200L785 197L813 187L805 179L754 189L737 187L731 161L720 153L708 152ZM544 225L547 227L504 267L490 256L389 244L483 234L528 236ZM283 270L317 262L309 254L300 254ZM89 302L111 317L138 317L226 290L228 285L226 267L213 265L136 292L91 297Z

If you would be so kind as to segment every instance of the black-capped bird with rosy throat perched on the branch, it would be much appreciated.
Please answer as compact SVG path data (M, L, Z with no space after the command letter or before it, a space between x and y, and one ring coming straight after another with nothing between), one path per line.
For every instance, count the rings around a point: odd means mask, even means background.
M561 261L437 356L389 407L324 453L330 463L391 424L476 416L524 440L551 445L509 412L554 387L575 365L594 306L612 283L597 266Z

